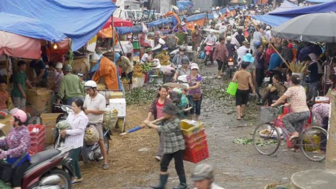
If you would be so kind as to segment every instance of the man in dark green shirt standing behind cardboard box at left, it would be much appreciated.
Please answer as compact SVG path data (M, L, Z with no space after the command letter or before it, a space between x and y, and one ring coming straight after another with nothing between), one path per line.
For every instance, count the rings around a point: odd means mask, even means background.
M22 110L26 110L26 84L29 88L32 88L27 75L25 73L27 65L25 61L18 62L19 71L13 74L12 81L14 83L12 90L12 100L13 104L16 108L20 108Z

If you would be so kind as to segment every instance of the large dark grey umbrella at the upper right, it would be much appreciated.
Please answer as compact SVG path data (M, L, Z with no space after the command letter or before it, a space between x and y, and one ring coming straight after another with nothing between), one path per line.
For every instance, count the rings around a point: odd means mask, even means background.
M336 13L315 13L295 17L271 30L273 36L314 42L336 42Z

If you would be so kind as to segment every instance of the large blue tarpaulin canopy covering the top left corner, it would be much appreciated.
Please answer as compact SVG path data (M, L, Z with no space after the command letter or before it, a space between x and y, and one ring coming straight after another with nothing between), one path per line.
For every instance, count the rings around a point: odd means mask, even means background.
M111 0L0 0L0 12L34 18L55 27L72 40L73 51L97 34L115 9Z

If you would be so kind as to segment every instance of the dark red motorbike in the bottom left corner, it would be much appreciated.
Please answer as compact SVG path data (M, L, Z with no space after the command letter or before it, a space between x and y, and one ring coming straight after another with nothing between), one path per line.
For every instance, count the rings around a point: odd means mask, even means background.
M61 147L31 156L22 179L22 189L71 189L74 171L68 158L72 147Z

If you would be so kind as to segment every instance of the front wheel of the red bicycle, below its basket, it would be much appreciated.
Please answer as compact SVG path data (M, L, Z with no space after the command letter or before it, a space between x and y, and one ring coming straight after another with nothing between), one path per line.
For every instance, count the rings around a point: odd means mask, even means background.
M274 154L281 142L279 130L270 123L257 126L253 132L253 145L263 155Z

